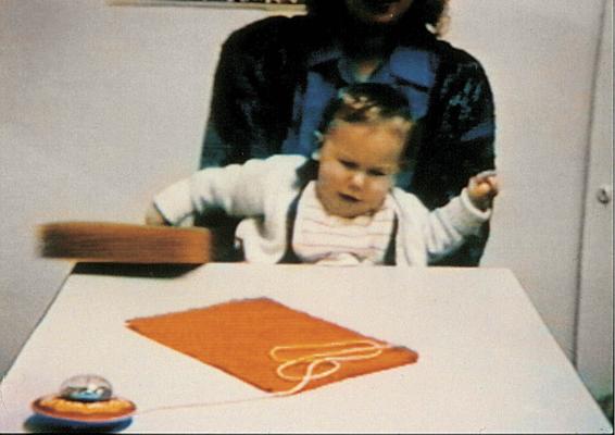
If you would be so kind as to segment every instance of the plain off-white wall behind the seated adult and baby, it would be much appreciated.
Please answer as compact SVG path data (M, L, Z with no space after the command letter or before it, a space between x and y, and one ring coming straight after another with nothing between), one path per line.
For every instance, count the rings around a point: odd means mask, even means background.
M484 264L515 272L569 357L602 1L452 2L447 36L495 94L504 191ZM219 44L261 16L0 1L0 373L70 271L35 257L34 226L140 222L197 166Z

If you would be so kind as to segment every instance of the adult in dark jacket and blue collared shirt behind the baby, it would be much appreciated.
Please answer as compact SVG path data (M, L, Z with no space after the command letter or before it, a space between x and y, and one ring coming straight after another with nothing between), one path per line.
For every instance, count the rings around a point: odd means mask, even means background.
M398 185L428 208L494 164L491 89L480 63L438 39L447 0L309 0L308 15L252 23L225 41L201 165L309 156L327 101L350 83L386 83L419 125ZM487 240L439 264L476 265Z

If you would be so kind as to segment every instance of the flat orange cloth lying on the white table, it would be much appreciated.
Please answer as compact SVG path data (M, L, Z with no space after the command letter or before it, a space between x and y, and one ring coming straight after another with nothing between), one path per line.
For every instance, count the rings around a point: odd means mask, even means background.
M296 311L267 298L231 300L202 309L133 319L127 326L164 346L213 365L269 393L287 391L298 384L276 373L280 364L269 355L276 346L330 344L369 339L334 323ZM353 347L348 345L348 347ZM279 357L297 358L329 349L287 349ZM410 364L418 355L403 347L387 347L380 355L357 361L342 361L339 370L311 380L301 390L316 388L347 377ZM302 376L306 363L289 373ZM324 363L315 373L331 368Z

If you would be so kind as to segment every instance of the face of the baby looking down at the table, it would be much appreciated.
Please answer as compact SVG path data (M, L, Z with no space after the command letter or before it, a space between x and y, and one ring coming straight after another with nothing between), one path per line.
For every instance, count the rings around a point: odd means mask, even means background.
M376 212L393 185L405 135L388 123L338 123L324 136L316 194L328 213Z

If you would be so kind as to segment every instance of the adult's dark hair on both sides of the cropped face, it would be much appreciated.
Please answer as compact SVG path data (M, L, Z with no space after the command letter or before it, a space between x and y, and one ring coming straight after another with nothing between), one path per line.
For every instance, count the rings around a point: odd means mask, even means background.
M423 35L426 32L439 36L449 0L414 0L407 12L397 23L401 38ZM308 14L339 26L350 20L344 0L305 0Z

